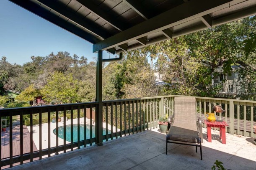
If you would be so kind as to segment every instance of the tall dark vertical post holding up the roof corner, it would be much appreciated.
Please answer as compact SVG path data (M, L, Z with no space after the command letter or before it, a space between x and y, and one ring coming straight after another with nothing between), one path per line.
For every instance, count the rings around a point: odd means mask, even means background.
M95 124L96 124L96 145L103 145L103 114L102 114L102 51L98 51L97 72L96 72L96 107Z

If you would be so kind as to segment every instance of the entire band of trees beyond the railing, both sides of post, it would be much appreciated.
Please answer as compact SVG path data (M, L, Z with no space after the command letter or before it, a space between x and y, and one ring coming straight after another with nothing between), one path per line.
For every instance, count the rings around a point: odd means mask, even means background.
M118 62L103 66L103 100L157 95L213 97L220 86L212 78L222 67L230 74L238 67L241 93L256 97L256 17L173 38L129 51ZM166 85L157 85L155 73ZM0 95L6 89L22 91L17 99L43 96L47 103L94 101L96 61L70 56L67 51L48 56L31 56L23 66L0 60Z

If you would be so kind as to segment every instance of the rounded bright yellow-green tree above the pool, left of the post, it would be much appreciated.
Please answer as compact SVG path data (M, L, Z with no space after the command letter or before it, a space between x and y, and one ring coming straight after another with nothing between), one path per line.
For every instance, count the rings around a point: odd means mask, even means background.
M63 74L55 71L47 84L41 89L43 98L48 103L75 103L81 100L78 95L80 81L73 79L72 74Z

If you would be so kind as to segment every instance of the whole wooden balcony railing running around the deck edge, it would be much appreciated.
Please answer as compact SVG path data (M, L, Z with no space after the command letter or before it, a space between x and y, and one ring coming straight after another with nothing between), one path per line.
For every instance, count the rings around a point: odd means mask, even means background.
M103 140L113 140L145 129L157 128L160 117L173 114L174 97L172 95L103 101L102 123L106 131L103 133ZM212 112L212 106L219 104L227 112L215 115L217 119L228 122L227 132L255 137L253 125L256 125L256 101L206 97L196 99L199 117L204 118L204 112ZM43 157L93 145L96 142L96 128L92 118L97 107L98 102L87 102L0 109L1 120L9 119L11 122L6 132L0 132L1 167L33 162ZM39 119L34 119L35 116ZM63 117L63 120L69 120L58 122L59 116ZM52 117L56 119L56 123L52 122ZM90 120L86 117L90 117ZM14 118L20 121L17 126L13 123ZM24 122L27 126L23 125ZM95 125L97 123L96 120ZM66 129L67 127L70 129ZM24 131L27 128L30 133ZM52 129L59 137L53 137Z

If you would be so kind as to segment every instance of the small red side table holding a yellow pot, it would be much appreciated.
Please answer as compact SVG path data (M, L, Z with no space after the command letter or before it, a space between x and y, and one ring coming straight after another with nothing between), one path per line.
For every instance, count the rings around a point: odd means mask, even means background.
M212 127L219 127L220 128L220 139L222 140L222 144L226 144L226 129L225 126L228 126L228 124L225 121L218 122L217 120L215 122L209 122L207 120L204 120L204 124L207 126L207 138L208 142L212 142Z

